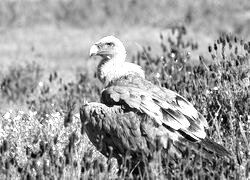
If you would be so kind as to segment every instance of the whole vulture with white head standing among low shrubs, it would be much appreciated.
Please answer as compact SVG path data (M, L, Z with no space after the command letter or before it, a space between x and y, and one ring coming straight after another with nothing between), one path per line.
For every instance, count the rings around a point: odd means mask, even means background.
M104 89L100 103L82 105L80 118L90 141L103 155L115 157L120 165L129 157L132 168L150 161L159 148L181 158L187 143L213 155L230 155L206 137L208 123L190 102L151 83L139 65L125 61L126 50L118 38L100 39L89 55L101 57L97 76Z

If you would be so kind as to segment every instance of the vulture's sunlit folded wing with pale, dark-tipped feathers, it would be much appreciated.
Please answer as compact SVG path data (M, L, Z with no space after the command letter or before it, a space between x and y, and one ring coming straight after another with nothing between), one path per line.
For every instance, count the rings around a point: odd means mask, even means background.
M156 123L180 132L194 140L206 137L205 118L179 94L156 86L139 76L118 79L103 92L106 105L122 105L152 117Z

